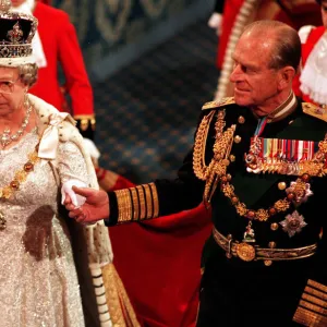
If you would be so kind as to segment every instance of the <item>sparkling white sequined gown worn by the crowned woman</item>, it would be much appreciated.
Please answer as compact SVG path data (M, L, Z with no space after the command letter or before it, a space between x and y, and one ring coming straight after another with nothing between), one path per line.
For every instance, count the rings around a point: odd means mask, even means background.
M38 143L36 131L0 152L0 186L12 181ZM61 182L88 182L83 157L60 143ZM65 221L58 216L60 187L51 166L37 162L10 199L0 199L7 227L0 231L0 327L83 327L84 317Z

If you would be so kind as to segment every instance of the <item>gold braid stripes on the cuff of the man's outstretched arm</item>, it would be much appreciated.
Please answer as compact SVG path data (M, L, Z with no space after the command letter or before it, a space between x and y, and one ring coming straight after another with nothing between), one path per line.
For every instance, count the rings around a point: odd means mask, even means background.
M114 191L118 223L140 221L159 216L157 187L154 183Z

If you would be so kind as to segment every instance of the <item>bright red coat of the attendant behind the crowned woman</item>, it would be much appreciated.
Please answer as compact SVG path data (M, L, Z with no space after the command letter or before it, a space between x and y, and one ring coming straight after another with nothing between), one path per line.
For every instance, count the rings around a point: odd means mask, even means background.
M38 20L38 33L48 65L39 69L38 81L29 92L60 111L68 111L58 80L58 62L60 62L65 77L65 89L72 99L72 114L75 118L93 117L93 89L76 32L69 15L62 10L40 2L36 2L33 14Z

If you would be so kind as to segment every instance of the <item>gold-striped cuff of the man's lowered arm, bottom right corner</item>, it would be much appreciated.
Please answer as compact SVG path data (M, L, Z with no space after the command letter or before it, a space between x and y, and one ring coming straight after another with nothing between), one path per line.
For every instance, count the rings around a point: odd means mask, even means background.
M313 327L327 326L327 287L308 280L293 320Z

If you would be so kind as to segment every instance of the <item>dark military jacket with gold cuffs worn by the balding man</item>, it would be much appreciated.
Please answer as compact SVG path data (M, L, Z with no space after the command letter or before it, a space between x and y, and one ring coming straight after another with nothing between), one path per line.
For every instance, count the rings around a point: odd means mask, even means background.
M296 102L293 106L294 108L287 112L287 117L276 121L268 119L259 135L262 142L268 140L268 148L269 145L271 146L269 140L280 140L277 143L275 142L279 147L276 154L286 159L288 152L293 152L290 161L300 161L300 153L302 159L305 159L304 156L307 156L307 150L303 150L303 148L306 148L307 144L311 144L312 149L315 152L318 150L319 144L320 148L324 148L325 144L323 143L326 133L325 113L314 105L300 104L298 100ZM208 174L204 180L196 177L194 171L196 170L196 158L198 156L194 156L194 152L198 152L203 146L205 150L201 152L201 160L204 160L206 166L210 165L215 156L215 143L217 147L216 141L223 138L221 134L217 134L217 121L220 116L223 121L222 132L231 126L234 131L231 142L228 143L231 148L227 157L229 162L227 170L218 178L219 181L216 184L217 174L214 175L211 186L207 192L208 194L211 193L211 197L207 201L209 201L213 210L215 229L225 237L230 235L232 240L243 242L246 227L251 221L251 228L254 231L253 239L255 240L252 243L253 245L263 249L288 250L305 249L317 244L318 250L308 258L272 261L272 265L271 261L254 259L249 263L239 257L228 259L225 251L210 238L205 246L203 265L211 268L216 265L219 269L223 267L226 276L230 274L234 276L235 271L239 271L229 289L229 293L235 291L234 294L238 296L240 295L240 288L245 293L250 291L246 288L249 277L259 277L269 271L268 275L271 274L269 284L278 290L280 294L278 300L288 299L284 304L287 315L303 325L308 326L316 322L316 325L310 326L326 326L327 319L324 307L327 306L327 247L326 234L323 234L322 238L319 235L322 229L327 230L325 210L327 181L324 173L318 174L311 170L311 174L308 174L303 173L302 170L298 171L298 174L290 174L290 171L279 169L278 165L275 168L267 165L265 172L255 173L253 167L251 171L245 160L249 159L246 155L251 154L251 140L258 130L261 120L249 108L235 105L233 99L228 99L221 104L209 102L203 107L196 135L203 129L202 122L209 116L211 116L211 120L203 133L204 136L202 138L196 137L193 149L187 154L183 166L178 172L178 178L172 181L157 180L154 183L109 193L111 216L106 223L117 225L149 219L190 209L198 205L206 193L207 180L210 175ZM303 146L303 148L299 150L299 146ZM288 150L287 147L289 147ZM264 148L264 153L269 155L269 150L266 148ZM282 156L282 153L284 156ZM217 170L219 169L217 168ZM302 183L303 175L305 175L304 183ZM226 185L222 182L226 179L232 185L233 192L230 196L227 196L230 187L222 187ZM304 193L302 195L298 194L298 203L289 201L289 206L282 207L281 204L286 203L288 194L293 194L296 181L299 184L305 185ZM247 214L242 214L242 210L235 204L244 204ZM274 215L266 217L263 213L267 213L271 208L282 209L277 209ZM255 218L249 219L247 216L251 211L255 213ZM261 216L261 214L263 215ZM286 278L286 274L290 274L292 278ZM217 278L217 275L211 277ZM222 283L225 282L222 281ZM255 287L255 283L252 283L251 290ZM237 290L237 288L239 289ZM316 295L317 292L318 295ZM228 294L223 296L228 296ZM313 300L307 300L307 296ZM276 302L277 299L272 298L269 293L266 298L263 298L264 301L267 301L265 306L269 306L271 300ZM247 300L251 302L251 295Z

